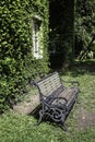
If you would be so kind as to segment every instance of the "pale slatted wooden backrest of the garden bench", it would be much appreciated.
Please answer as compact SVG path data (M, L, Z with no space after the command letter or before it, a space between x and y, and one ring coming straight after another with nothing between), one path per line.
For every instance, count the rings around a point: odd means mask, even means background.
M52 92L62 86L58 72L54 72L41 79L37 82L37 85L40 88L40 92L46 96L51 95Z

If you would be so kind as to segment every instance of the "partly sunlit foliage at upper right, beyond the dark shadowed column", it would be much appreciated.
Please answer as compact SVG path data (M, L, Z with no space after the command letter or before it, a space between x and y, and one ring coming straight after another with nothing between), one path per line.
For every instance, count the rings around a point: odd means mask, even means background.
M76 0L75 55L81 59L95 56L95 1Z

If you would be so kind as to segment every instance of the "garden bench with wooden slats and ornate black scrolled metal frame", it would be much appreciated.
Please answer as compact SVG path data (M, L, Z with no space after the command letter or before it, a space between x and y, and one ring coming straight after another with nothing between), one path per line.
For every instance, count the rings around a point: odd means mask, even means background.
M39 109L38 125L44 116L49 116L55 122L61 125L66 129L64 120L74 105L80 90L78 82L68 82L73 85L66 87L58 72L34 82L39 92L39 100L41 108Z

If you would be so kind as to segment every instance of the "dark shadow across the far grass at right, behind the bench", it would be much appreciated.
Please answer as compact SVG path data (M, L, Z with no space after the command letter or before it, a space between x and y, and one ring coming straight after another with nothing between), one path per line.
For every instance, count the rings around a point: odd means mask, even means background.
M92 74L95 75L95 60L75 61L73 66L69 67L69 72L72 76ZM67 71L60 71L61 74L67 73Z

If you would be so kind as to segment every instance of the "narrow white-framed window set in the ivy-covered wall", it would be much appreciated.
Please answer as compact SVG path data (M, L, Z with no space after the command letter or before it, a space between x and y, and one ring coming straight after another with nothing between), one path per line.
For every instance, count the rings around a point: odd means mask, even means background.
M40 19L35 16L33 19L33 55L36 59L43 58L40 55Z

